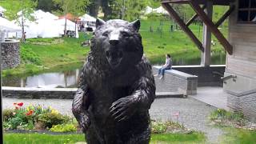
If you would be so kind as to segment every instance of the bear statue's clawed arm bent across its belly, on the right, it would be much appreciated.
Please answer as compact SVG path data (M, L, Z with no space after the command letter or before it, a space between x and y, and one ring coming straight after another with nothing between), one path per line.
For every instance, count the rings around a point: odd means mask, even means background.
M110 107L110 114L118 122L130 118L136 111L149 110L152 102L154 102L155 85L151 66L143 63L139 69L144 72L132 86L133 93L113 102Z

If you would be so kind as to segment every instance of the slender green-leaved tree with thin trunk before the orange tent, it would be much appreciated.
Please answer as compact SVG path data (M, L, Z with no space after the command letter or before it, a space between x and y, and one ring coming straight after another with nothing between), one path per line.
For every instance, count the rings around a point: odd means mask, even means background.
M66 35L66 14L70 13L74 16L82 15L85 10L86 6L89 5L89 0L53 0L54 3L62 10L58 11L58 13L64 14L65 16L65 29L64 33Z

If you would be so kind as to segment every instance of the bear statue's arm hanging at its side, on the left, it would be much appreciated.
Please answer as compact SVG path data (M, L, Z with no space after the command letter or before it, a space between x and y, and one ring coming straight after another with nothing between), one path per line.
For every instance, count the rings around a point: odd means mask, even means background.
M85 66L83 67L82 74L79 78L78 90L74 95L72 103L72 112L74 117L78 120L79 125L82 127L82 130L86 130L90 125L89 114L87 112L88 107L90 106L89 88L84 76L84 68Z

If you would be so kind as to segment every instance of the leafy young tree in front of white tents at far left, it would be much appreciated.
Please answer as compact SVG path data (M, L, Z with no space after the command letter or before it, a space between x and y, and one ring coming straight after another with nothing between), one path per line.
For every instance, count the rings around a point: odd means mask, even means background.
M34 20L31 15L34 13L34 8L37 6L37 1L31 0L10 0L8 1L8 9L6 11L6 16L10 20L15 20L18 22L19 26L22 26L22 42L25 42L25 31L24 31L24 21L28 19L30 21Z

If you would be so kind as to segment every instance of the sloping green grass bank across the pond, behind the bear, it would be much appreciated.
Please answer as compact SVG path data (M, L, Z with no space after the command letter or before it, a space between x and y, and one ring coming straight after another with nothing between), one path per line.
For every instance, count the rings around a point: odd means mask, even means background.
M179 65L197 62L199 64L201 52L182 30L170 32L172 23L169 20L162 21L162 26L160 26L159 20L142 20L141 23L140 33L144 51L152 64L165 62L167 53L171 54L174 62ZM150 27L153 32L150 32ZM190 28L194 34L198 35L199 39L202 39L202 26L191 25ZM227 35L225 28L222 31ZM38 74L46 70L56 70L59 66L69 69L69 67L74 67L74 64L81 66L90 51L88 46L81 46L81 42L84 41L84 34L80 34L79 38L27 39L26 43L21 44L22 64L14 69L3 70L2 76ZM212 46L212 51L225 57L224 50L216 38L213 38L213 42L215 44ZM182 63L179 63L180 61ZM214 62L214 64L218 64L218 62Z

